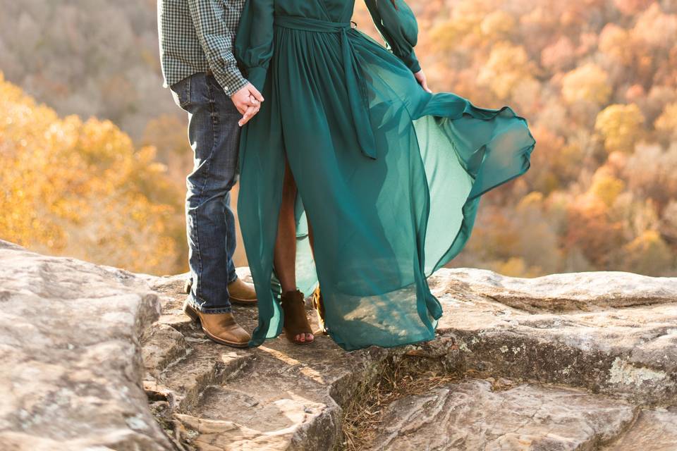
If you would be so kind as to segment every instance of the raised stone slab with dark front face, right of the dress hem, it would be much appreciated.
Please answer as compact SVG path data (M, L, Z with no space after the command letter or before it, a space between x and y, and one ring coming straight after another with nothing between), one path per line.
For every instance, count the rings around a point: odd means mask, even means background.
M677 297L671 295L677 278L628 276L641 288L636 299L652 299L638 304L626 276L514 279L477 269L438 271L430 285L444 307L440 338L420 347L420 354L446 359L456 371L573 385L640 404L677 404ZM568 302L577 308L563 309L562 301L534 311L506 301L522 299L527 286L544 295L554 280L559 285L551 298L563 299L571 286L576 299Z

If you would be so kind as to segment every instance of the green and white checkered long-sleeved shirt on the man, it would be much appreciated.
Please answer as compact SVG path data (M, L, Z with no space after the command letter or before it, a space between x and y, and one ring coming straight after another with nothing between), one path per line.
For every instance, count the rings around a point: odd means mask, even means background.
M157 0L164 86L212 71L229 96L248 81L233 56L245 0Z

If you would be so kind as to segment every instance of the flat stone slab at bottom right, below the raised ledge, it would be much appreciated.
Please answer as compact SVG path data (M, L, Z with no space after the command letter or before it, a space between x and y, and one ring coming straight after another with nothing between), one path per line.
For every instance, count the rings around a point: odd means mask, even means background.
M469 381L390 404L372 449L593 450L633 418L627 402L583 390L525 384L492 391L487 381Z

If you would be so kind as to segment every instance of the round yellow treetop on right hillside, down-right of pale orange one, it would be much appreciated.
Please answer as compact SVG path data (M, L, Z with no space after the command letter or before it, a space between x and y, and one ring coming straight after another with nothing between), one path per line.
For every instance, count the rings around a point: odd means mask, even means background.
M604 138L607 152L633 152L642 137L644 115L635 104L607 106L597 115L594 128Z

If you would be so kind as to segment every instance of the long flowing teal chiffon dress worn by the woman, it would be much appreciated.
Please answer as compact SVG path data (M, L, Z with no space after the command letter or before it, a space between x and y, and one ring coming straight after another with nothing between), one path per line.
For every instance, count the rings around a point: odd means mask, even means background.
M412 11L365 1L387 47L350 23L354 0L248 0L240 19L236 56L265 98L240 142L252 346L283 325L273 254L285 159L299 193L298 284L310 295L319 280L345 350L434 338L442 309L427 277L463 249L480 196L530 165L525 119L425 92Z

